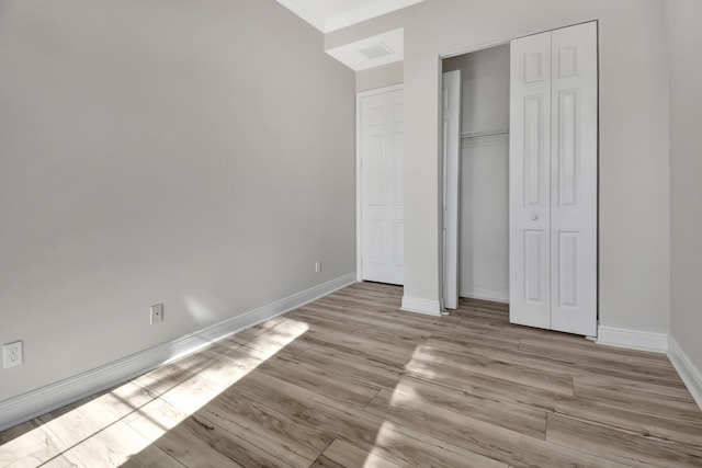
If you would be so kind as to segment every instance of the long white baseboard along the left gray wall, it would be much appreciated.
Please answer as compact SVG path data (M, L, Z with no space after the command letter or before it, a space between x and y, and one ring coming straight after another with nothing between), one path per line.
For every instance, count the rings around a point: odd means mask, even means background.
M127 381L160 365L194 353L218 340L304 306L353 283L355 283L355 273L349 273L194 333L0 401L0 431Z

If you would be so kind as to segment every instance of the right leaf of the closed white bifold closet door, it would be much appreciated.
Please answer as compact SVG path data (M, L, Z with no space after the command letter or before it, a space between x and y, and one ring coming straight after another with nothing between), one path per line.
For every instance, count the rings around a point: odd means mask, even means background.
M552 33L552 329L597 332L597 24Z

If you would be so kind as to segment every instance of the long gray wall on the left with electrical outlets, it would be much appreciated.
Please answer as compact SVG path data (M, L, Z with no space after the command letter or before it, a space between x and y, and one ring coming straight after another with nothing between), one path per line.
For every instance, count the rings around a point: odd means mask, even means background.
M316 30L274 0L0 3L0 400L354 264L354 75Z

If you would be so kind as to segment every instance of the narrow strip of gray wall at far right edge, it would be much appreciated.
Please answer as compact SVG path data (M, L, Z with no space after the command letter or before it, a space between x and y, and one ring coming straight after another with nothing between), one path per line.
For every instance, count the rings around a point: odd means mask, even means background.
M702 2L666 2L670 46L671 335L702 372Z

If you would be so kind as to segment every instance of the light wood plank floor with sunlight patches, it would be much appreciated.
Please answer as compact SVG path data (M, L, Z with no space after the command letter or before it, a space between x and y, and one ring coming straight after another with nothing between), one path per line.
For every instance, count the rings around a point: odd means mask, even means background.
M702 466L665 355L358 284L4 433L0 466ZM13 465L14 464L14 465Z

